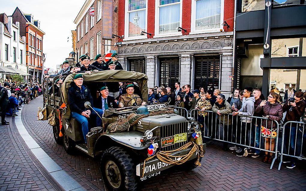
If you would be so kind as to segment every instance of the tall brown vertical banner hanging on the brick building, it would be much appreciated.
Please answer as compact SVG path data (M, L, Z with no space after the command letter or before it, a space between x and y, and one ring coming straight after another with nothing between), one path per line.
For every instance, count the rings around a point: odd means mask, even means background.
M112 38L112 26L113 26L113 1L103 1L103 23L102 23L102 38Z

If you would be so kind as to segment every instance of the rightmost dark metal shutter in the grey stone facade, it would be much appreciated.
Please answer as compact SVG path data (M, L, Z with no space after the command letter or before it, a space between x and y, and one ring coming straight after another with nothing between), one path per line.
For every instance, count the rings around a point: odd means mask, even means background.
M198 89L207 90L210 86L219 87L220 56L195 57L195 82Z

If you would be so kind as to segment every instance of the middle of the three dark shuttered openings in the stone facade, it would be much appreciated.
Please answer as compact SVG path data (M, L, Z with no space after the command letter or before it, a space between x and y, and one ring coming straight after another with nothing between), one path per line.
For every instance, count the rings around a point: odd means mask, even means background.
M159 84L174 88L180 76L179 58L160 58Z

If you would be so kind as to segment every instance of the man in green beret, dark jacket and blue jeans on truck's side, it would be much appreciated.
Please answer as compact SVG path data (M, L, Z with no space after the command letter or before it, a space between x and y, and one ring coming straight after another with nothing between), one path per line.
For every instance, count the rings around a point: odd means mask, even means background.
M84 136L84 141L86 141L86 135L88 133L88 118L94 117L97 122L97 127L101 126L102 120L94 111L91 109L85 108L84 103L89 101L91 105L93 105L93 100L87 86L83 85L83 75L76 74L73 77L73 82L71 83L71 87L68 90L68 104L71 110L71 116L75 118L82 125L82 131ZM99 108L94 108L94 110L102 116L103 111Z

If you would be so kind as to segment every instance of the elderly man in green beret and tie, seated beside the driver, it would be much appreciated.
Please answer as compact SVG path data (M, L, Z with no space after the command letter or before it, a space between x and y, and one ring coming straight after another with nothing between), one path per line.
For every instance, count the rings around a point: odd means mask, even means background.
M115 98L109 95L107 86L103 86L100 89L100 95L97 99L96 108L101 108L103 113L108 108L118 108L118 104L115 102Z

